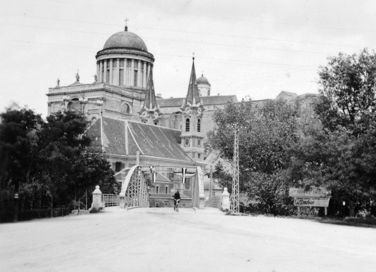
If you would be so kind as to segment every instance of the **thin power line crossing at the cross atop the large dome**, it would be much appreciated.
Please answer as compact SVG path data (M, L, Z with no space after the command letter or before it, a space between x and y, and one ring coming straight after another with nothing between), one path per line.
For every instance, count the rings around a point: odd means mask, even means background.
M68 19L58 19L58 18L31 16L31 15L24 15L24 14L23 15L19 15L19 14L6 14L6 13L3 13L3 15L21 16L21 17L30 17L30 18L39 18L39 19L45 19L45 20L69 21L69 22L87 23L87 24L102 24L102 25L107 25L107 26L123 26L121 24L108 24L108 23L98 23L98 22L89 22L89 21L77 21L77 20L68 20ZM288 43L302 43L302 44L317 44L317 45L330 45L330 46L344 46L344 47L364 48L364 46L354 46L354 45L346 45L346 44L315 43L315 42L310 42L310 41L280 40L280 39L250 37L250 36L241 36L241 35L228 35L228 34L215 34L215 33L208 33L208 32L185 31L185 30L176 30L176 29L150 28L150 27L146 27L146 26L133 26L133 28L135 28L135 29L137 29L137 28L152 29L152 30L170 31L170 32L183 32L183 33L203 34L203 35L213 35L213 36L221 36L221 37L247 38L247 39L254 39L254 40L283 41L283 42L288 42ZM373 46L371 46L371 47L373 47Z

